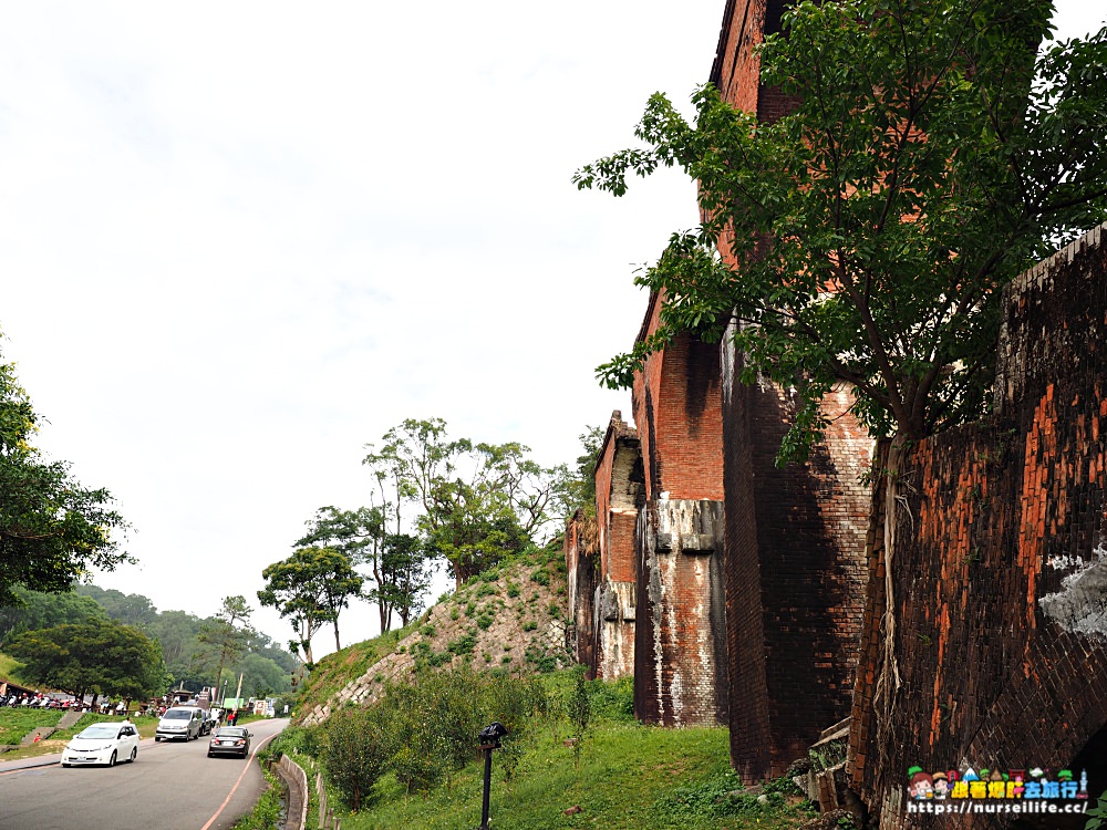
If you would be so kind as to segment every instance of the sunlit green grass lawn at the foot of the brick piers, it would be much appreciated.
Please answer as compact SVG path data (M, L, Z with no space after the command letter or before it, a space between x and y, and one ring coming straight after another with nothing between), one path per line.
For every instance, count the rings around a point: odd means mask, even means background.
M492 818L499 830L738 830L795 828L809 820L799 798L728 796L742 786L727 764L723 728L663 729L604 723L586 738L580 768L562 735L540 734L515 780L495 769ZM379 785L376 803L342 819L345 830L438 828L472 830L480 822L483 768L470 764L449 789L407 796L395 778ZM581 811L566 816L575 806Z

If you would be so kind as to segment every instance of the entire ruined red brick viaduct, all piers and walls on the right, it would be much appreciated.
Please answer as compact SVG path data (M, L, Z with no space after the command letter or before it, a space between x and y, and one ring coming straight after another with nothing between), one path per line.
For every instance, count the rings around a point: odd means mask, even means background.
M759 84L754 52L780 10L728 0L711 74L763 120L789 105ZM685 334L650 356L634 427L611 418L597 519L579 513L566 533L590 676L633 673L643 722L728 725L731 761L751 784L837 726L849 745L839 788L860 796L872 827L932 824L907 812L915 765L1086 768L1093 798L1107 789L1105 229L1008 288L991 416L918 443L901 465L890 703L873 695L883 499L861 484L875 448L851 394L824 401L831 428L811 458L778 468L793 395L741 384L728 338ZM650 298L640 340L663 301Z

